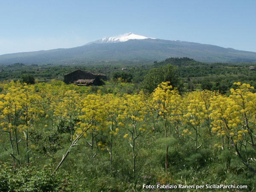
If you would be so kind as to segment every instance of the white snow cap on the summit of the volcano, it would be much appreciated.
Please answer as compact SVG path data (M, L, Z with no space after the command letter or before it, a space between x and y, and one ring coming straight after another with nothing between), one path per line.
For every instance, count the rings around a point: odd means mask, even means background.
M89 44L92 43L97 43L97 44L101 44L101 43L119 43L119 42L125 42L128 41L130 39L148 39L148 37L142 36L142 35L136 35L134 33L125 33L123 35L118 35L116 37L110 37L110 38L102 38L99 39L97 41L93 41ZM155 38L150 38L150 39L155 39Z

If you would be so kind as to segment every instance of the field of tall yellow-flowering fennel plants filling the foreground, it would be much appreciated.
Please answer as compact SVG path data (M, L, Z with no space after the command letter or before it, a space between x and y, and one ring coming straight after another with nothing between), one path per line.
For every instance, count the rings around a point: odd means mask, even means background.
M180 95L169 82L151 94L1 83L0 191L146 191L156 183L251 191L256 93L235 85L229 95Z

